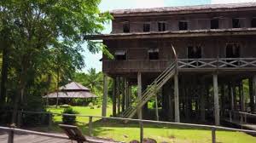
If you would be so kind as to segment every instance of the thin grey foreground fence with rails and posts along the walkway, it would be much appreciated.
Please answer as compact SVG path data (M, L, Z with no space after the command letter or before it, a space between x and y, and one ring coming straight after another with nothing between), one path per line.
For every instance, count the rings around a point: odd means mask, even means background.
M35 113L35 114L49 114L49 112L22 112L22 113ZM89 117L89 135L91 136L93 133L93 118L100 118L100 119L109 119L109 120L119 120L119 121L130 121L130 122L137 122L140 127L140 141L143 142L143 123L155 123L155 124L168 124L168 125L181 125L181 126L187 126L187 127L197 127L197 128L206 128L212 130L212 143L216 143L216 130L229 130L229 131L239 131L239 132L245 132L250 134L256 134L256 131L248 130L248 129L233 129L233 128L226 128L226 127L220 127L220 126L213 126L213 125L204 125L204 124L195 124L195 123L172 123L172 122L162 122L162 121L152 121L152 120L140 120L140 119L132 119L132 118L122 118L122 117L100 117L100 116L88 116L88 115L82 115L82 114L60 114L60 113L52 113L59 116L76 116L76 117ZM51 114L51 115L52 115ZM255 116L253 114L253 116ZM49 116L52 117L52 116ZM50 123L51 125L51 123ZM23 133L29 133L29 134L38 134L43 136L50 136L55 138L61 138L66 139L65 136L56 135L56 134L44 134L44 133L38 133L33 131L27 131L24 129L14 129L14 128L5 128L0 127L0 130L8 131L9 132L9 143L13 143L13 135L15 132L23 132Z

